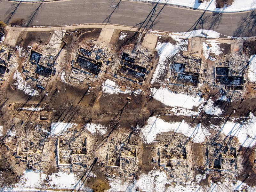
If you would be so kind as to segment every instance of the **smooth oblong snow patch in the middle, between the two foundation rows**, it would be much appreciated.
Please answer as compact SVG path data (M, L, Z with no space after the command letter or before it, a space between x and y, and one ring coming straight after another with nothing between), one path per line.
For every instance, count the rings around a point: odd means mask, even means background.
M163 87L151 89L151 94L154 99L170 107L192 109L194 106L198 107L204 102L204 99L199 96L192 97L183 93L174 93Z

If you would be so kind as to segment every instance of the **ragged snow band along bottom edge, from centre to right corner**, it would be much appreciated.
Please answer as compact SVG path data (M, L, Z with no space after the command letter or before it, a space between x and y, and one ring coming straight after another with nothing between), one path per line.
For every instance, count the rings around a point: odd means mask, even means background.
M133 182L122 181L122 178L109 178L110 189L109 192L119 192L119 191L141 191L155 192L155 191L175 191L175 192L220 192L220 191L242 191L246 188L246 191L255 191L256 187L249 187L246 183L240 180L236 182L231 182L228 179L224 179L222 182L212 183L210 187L207 185L200 186L199 182L205 179L205 174L197 174L194 181L189 181L183 185L174 183L168 180L165 172L159 170L152 170L147 174L141 174L138 180ZM234 184L235 183L235 184Z

